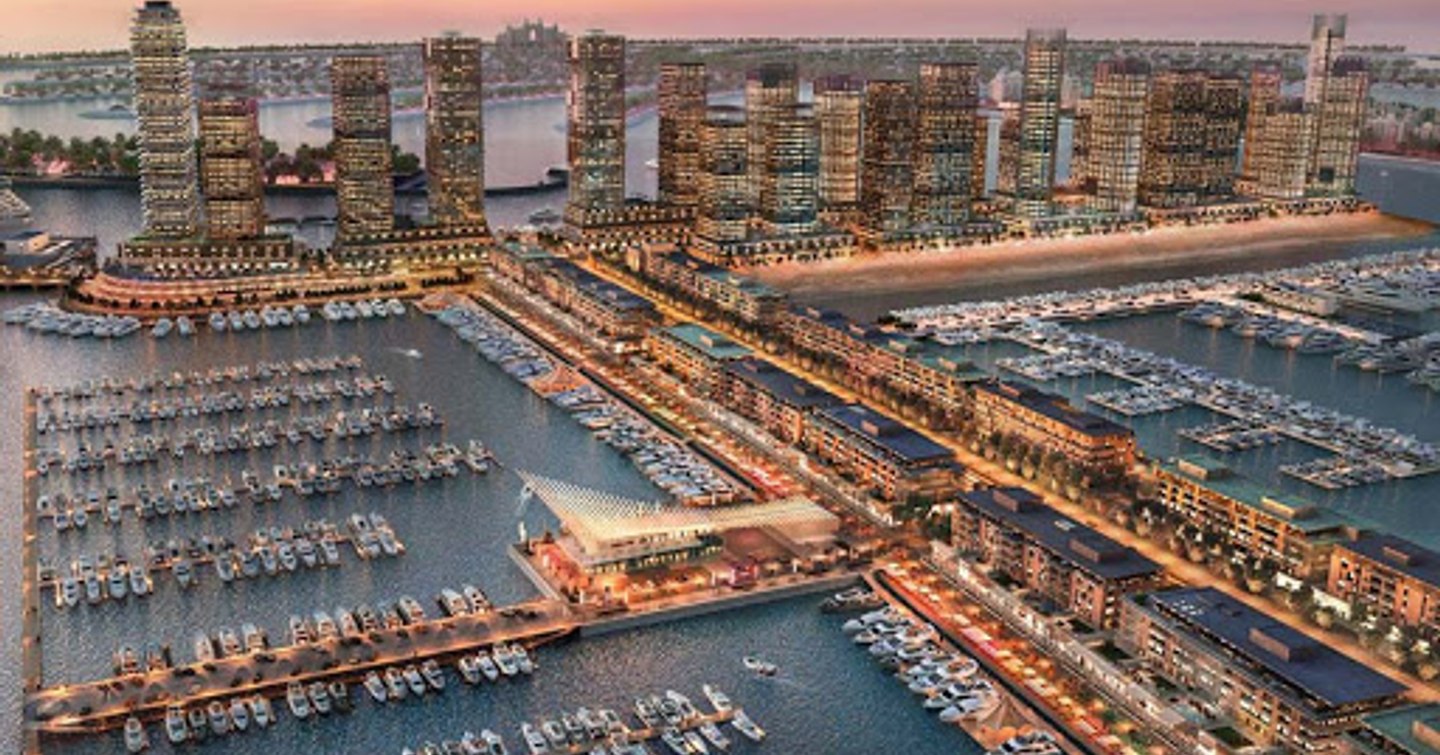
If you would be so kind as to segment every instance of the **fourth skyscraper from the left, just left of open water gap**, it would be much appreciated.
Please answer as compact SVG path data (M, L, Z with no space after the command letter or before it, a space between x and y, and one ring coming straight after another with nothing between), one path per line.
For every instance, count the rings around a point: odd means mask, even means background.
M425 40L425 173L431 219L485 225L485 127L480 40Z

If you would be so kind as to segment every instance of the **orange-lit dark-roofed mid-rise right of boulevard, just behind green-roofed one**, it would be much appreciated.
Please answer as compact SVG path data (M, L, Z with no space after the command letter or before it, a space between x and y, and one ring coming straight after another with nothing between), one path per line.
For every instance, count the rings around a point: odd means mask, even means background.
M1020 383L975 383L972 416L982 437L1015 435L1092 470L1123 471L1135 463L1135 434L1129 428Z

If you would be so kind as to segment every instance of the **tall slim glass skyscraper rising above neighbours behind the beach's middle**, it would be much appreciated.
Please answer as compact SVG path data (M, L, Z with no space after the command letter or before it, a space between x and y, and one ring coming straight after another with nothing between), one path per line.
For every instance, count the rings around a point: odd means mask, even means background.
M1050 213L1064 71L1066 30L1025 32L1025 79L1020 98L1020 150L1015 166L1015 213L1021 218L1043 218Z

